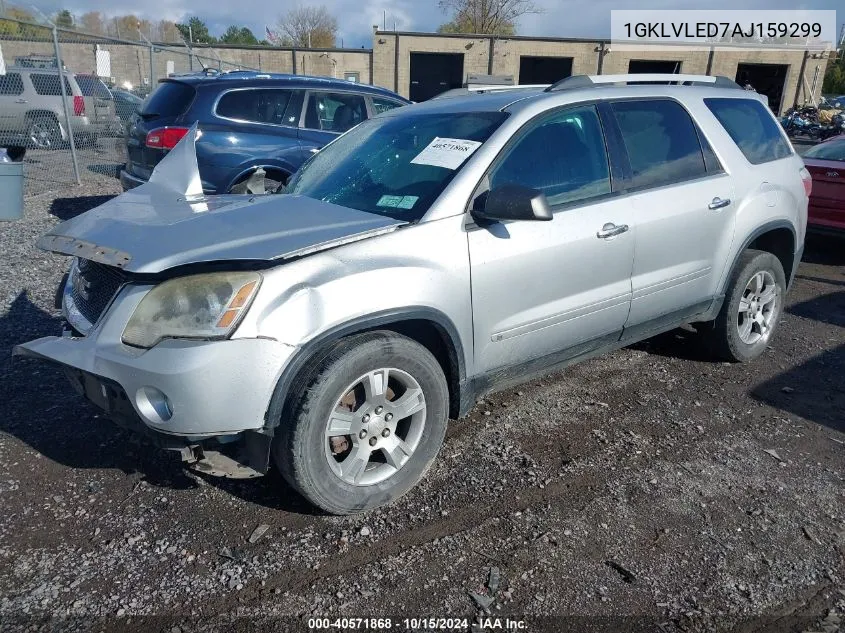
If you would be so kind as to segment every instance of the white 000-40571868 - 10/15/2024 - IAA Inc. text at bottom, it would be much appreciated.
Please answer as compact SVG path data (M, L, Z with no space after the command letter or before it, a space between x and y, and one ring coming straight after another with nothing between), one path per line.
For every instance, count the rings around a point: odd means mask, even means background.
M312 631L527 631L525 620L502 617L469 618L308 618Z

